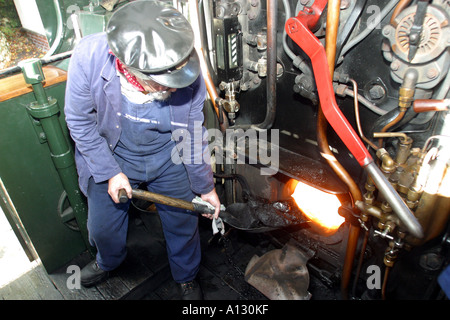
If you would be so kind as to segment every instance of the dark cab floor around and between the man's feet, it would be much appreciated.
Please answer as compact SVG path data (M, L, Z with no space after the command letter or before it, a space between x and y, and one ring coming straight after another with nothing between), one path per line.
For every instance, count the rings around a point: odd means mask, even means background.
M167 259L161 222L156 212L131 210L127 257L109 278L94 287L70 288L68 267L84 267L92 260L86 251L49 275L64 300L179 300ZM253 256L280 248L265 233L227 228L224 236L213 236L211 220L200 217L202 261L197 280L204 300L267 300L244 279ZM312 299L336 299L335 294L310 274ZM331 294L330 294L331 293Z

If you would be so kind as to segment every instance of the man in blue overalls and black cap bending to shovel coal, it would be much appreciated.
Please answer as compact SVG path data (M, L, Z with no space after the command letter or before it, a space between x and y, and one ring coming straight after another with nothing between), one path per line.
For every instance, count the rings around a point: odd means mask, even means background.
M128 208L120 189L145 183L149 191L215 208L203 123L206 88L189 22L156 1L133 1L110 18L106 32L84 37L74 49L65 115L75 142L81 191L88 199L90 242L96 259L81 283L106 278L126 256ZM194 135L201 135L195 139ZM202 297L196 213L157 205L174 280L183 299Z

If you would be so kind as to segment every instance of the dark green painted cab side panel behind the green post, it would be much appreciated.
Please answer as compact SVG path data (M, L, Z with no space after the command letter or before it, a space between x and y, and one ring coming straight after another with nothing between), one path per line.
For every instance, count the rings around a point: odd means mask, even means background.
M65 83L46 88L58 100L64 121ZM58 202L63 187L46 142L39 139L26 106L33 93L0 102L0 177L22 223L48 272L86 250L81 233L61 222ZM7 212L5 212L7 214Z

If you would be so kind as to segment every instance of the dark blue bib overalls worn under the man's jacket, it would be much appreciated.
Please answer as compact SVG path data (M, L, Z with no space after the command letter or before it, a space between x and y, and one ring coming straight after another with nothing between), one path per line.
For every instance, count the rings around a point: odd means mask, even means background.
M178 155L171 139L170 114L166 102L134 104L122 96L122 133L114 158L132 188L146 183L149 191L191 201L189 179L183 164L172 161ZM178 162L179 163L179 162ZM125 259L128 208L116 204L108 192L108 182L88 184L88 230L97 248L97 262L103 270L113 270ZM200 265L198 214L156 204L167 245L172 276L176 282L193 280Z

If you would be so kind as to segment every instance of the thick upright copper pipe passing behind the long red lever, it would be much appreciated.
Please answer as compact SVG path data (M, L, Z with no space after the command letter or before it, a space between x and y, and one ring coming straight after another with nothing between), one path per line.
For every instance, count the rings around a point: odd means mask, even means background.
M337 31L339 27L339 13L340 13L340 0L330 0L328 1L327 10L327 30L325 35L325 51L327 54L327 61L330 68L331 78L333 78L334 73L334 62L336 56L336 38ZM356 185L355 181L352 179L350 174L344 169L344 167L337 161L333 153L330 151L327 138L327 120L319 108L317 114L317 142L319 144L320 151L328 162L330 167L336 172L339 178L349 187L350 193L353 198L353 202L362 200L362 194ZM353 203L354 206L354 203ZM354 225L350 225L347 251L345 254L344 267L342 270L341 279L341 291L345 299L348 298L348 285L350 283L351 272L353 268L353 261L355 258L356 245L359 238L360 228Z

